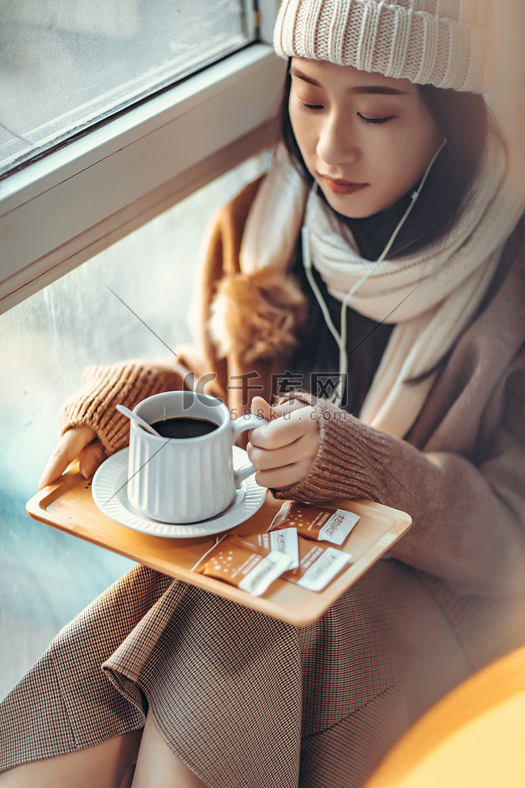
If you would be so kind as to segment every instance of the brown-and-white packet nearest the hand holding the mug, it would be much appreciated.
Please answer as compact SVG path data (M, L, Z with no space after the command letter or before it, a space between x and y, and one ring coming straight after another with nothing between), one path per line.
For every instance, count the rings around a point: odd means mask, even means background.
M359 519L359 515L346 509L325 509L287 500L268 530L293 527L300 537L342 545Z

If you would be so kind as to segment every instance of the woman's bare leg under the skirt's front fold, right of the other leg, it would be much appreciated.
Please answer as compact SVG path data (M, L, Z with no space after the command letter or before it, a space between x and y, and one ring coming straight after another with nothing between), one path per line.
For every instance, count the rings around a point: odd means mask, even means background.
M205 783L169 749L154 726L150 712L142 734L133 788L206 788Z

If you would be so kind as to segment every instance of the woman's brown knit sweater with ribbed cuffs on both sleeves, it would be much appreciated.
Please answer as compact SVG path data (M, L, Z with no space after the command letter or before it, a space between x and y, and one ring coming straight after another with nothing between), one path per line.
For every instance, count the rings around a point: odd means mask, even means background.
M255 283L239 278L242 229L257 187L258 181L250 184L217 217L198 282L196 348L181 352L173 367L140 361L91 367L81 391L65 403L62 430L88 424L106 451L114 452L128 437L127 420L115 413L114 404L133 407L154 392L180 388L188 370L214 372L207 390L227 400L234 415L250 405L250 392L235 376L255 373L253 381L261 388L253 393L271 395L272 374L286 368L305 314L289 279L279 283L271 278L275 272L267 281L261 274ZM314 466L298 485L276 493L309 502L366 497L408 511L412 529L392 556L420 572L427 584L457 593L525 593L524 248L521 222L479 315L443 363L405 440L314 401L320 424ZM240 296L228 302L234 314L231 336L221 345L224 358L209 331L219 285L219 298L226 299L230 285L241 293L251 286L250 303ZM268 314L272 320L265 322ZM257 358L248 359L247 348L256 340Z

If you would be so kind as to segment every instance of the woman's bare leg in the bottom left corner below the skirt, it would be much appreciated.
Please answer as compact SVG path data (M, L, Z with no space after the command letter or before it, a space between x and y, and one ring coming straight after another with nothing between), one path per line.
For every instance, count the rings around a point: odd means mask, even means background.
M130 788L142 730L0 774L0 788Z

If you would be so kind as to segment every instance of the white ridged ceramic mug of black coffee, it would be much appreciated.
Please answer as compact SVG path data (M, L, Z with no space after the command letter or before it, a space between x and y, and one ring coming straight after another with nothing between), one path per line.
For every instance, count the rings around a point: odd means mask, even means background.
M199 437L157 437L131 422L128 498L135 507L162 522L201 522L219 515L244 479L255 473L251 463L234 470L233 445L246 429L268 424L250 414L231 421L227 406L200 392L154 394L135 406L149 424L168 418L199 418L216 425Z

